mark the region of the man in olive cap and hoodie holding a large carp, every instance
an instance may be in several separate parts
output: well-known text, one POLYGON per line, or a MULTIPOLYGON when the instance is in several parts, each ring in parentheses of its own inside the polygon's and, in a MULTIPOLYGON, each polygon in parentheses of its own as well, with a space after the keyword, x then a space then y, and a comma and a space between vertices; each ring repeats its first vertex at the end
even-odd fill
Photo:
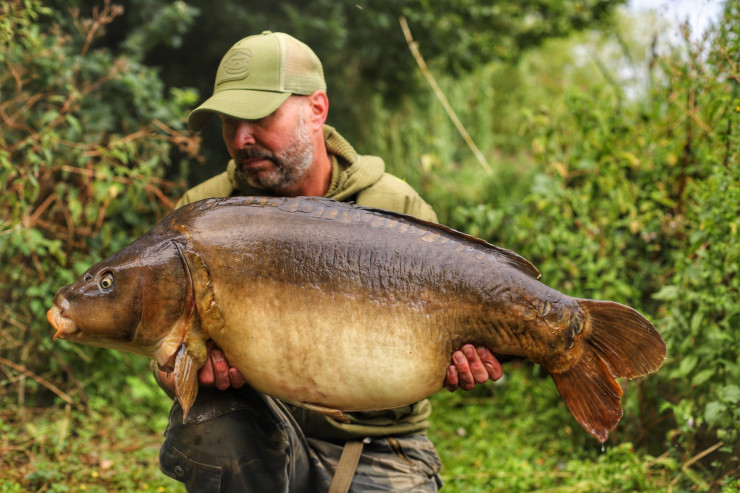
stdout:
MULTIPOLYGON (((323 196, 436 221, 410 186, 385 173, 380 158, 358 155, 325 125, 325 89, 319 59, 295 38, 264 32, 236 43, 221 61, 213 96, 188 119, 197 131, 218 115, 232 160, 178 206, 233 195, 323 196)), ((340 423, 254 391, 218 348, 209 348, 187 423, 175 402, 160 452, 163 472, 189 491, 347 491, 350 481, 352 491, 441 485, 439 457, 425 435, 427 400, 351 413, 350 423, 340 423)), ((448 390, 501 376, 485 348, 465 345, 452 359, 448 390)), ((172 392, 169 375, 158 372, 158 380, 172 392)))

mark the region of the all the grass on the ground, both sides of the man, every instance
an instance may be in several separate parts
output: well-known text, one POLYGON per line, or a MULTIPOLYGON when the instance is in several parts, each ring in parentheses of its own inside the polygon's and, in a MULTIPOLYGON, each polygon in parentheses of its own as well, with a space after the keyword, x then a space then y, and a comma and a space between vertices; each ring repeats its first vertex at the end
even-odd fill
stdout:
MULTIPOLYGON (((682 491, 671 488, 677 467, 668 457, 635 453, 619 428, 602 449, 549 378, 528 365, 506 370, 502 383, 432 397, 444 491, 682 491)), ((124 413, 95 398, 85 411, 4 405, 0 493, 183 492, 159 471, 167 416, 155 407, 124 413)))

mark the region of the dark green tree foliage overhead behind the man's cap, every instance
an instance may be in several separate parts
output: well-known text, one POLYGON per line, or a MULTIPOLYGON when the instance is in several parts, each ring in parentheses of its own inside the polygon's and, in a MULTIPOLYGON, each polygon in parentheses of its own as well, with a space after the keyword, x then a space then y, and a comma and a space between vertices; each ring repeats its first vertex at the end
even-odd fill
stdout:
MULTIPOLYGON (((67 3, 60 1, 59 8, 67 3)), ((90 10, 100 2, 73 3, 90 10)), ((624 3, 289 0, 215 6, 209 0, 136 0, 126 3, 121 22, 111 26, 105 40, 135 50, 137 57, 159 68, 168 86, 195 87, 205 99, 213 91, 216 68, 229 46, 263 30, 288 32, 321 58, 332 103, 330 123, 355 141, 367 135, 367 118, 374 111, 368 101, 373 97, 380 94, 384 105, 394 105, 423 87, 401 32, 401 16, 407 18, 428 62, 462 75, 494 60, 516 60, 549 38, 604 24, 624 3), (171 17, 176 21, 170 22, 171 17), (186 24, 190 28, 184 31, 186 24), (175 42, 164 42, 167 39, 175 42)), ((203 136, 203 153, 217 165, 192 168, 192 184, 215 174, 228 159, 218 125, 206 127, 203 136)))

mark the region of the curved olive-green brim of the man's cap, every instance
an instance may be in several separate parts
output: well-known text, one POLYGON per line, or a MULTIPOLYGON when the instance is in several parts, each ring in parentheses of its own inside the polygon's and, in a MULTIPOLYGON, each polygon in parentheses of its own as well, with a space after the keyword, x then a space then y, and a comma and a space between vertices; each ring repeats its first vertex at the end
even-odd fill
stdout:
POLYGON ((201 130, 214 114, 241 120, 259 120, 278 109, 290 94, 249 89, 219 91, 190 113, 188 128, 195 132, 201 130))

